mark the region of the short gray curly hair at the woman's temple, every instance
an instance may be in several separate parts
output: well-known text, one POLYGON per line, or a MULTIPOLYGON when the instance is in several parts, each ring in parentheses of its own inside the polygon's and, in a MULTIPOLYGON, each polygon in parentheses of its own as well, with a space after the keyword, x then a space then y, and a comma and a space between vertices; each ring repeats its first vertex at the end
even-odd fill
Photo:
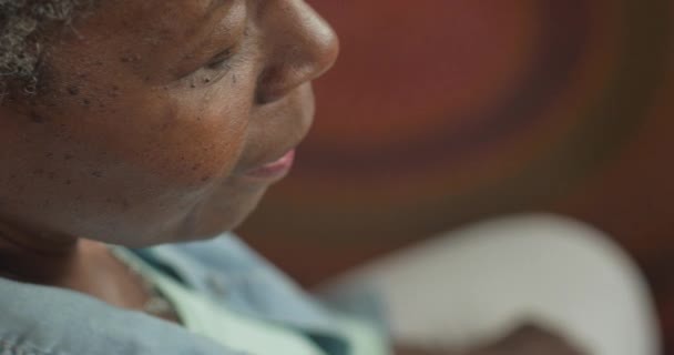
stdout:
POLYGON ((10 82, 37 90, 48 26, 70 24, 94 0, 0 0, 0 95, 10 82))

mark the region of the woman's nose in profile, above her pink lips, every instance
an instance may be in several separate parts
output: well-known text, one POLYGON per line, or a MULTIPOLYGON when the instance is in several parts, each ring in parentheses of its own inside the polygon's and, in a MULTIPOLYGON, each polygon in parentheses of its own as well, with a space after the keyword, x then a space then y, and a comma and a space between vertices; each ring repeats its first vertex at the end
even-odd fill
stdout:
POLYGON ((320 77, 339 53, 335 31, 303 0, 264 3, 258 13, 267 60, 257 85, 259 104, 280 100, 320 77))

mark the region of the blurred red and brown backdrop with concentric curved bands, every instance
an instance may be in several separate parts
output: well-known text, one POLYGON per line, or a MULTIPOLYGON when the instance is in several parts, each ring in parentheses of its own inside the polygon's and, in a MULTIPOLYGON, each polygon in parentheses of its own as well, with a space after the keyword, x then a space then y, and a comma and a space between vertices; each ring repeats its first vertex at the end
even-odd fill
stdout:
POLYGON ((545 211, 640 263, 674 354, 673 0, 312 0, 340 34, 293 174, 239 233, 304 285, 545 211))

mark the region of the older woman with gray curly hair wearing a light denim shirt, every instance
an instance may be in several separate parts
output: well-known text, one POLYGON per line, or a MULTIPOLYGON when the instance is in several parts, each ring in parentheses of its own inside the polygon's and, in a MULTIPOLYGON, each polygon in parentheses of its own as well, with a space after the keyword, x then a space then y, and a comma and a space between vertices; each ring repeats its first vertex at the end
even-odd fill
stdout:
POLYGON ((226 234, 337 57, 304 1, 0 0, 0 354, 389 353, 226 234))

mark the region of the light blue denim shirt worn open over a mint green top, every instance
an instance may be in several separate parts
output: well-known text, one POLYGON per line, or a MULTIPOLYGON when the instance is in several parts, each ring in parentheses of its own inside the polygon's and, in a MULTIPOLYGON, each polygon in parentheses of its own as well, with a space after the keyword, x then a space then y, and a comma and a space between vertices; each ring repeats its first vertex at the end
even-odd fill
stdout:
MULTIPOLYGON (((348 354, 333 313, 233 235, 135 253, 167 275, 252 317, 348 354)), ((211 339, 69 290, 0 278, 0 355, 234 355, 211 339)), ((252 354, 255 355, 255 354, 252 354)))

